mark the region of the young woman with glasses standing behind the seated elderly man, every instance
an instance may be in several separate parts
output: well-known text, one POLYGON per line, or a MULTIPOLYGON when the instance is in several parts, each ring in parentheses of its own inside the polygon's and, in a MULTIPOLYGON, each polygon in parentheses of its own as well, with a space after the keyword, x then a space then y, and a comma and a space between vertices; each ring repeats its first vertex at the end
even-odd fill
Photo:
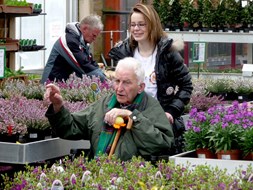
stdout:
POLYGON ((129 17, 130 37, 113 47, 109 56, 118 60, 132 56, 145 68, 145 91, 158 99, 173 124, 175 151, 182 152, 185 130, 181 115, 190 101, 192 81, 179 51, 183 42, 173 41, 164 32, 160 18, 151 5, 136 4, 129 17))

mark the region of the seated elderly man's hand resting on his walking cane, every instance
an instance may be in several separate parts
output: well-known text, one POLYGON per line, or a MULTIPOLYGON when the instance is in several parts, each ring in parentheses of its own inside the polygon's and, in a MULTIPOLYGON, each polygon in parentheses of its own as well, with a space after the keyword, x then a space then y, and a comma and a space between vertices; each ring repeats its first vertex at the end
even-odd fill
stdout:
POLYGON ((113 108, 105 114, 104 121, 109 125, 113 125, 118 116, 125 118, 130 116, 131 114, 132 112, 130 110, 113 108))

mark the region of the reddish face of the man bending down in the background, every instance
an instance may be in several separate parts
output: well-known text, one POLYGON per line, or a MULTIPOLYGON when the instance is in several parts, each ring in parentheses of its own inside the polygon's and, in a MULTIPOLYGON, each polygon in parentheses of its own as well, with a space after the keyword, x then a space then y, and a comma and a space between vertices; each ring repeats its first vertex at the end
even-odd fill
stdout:
POLYGON ((101 33, 99 29, 91 28, 88 25, 80 25, 80 30, 83 34, 84 41, 87 43, 95 41, 97 36, 101 33))

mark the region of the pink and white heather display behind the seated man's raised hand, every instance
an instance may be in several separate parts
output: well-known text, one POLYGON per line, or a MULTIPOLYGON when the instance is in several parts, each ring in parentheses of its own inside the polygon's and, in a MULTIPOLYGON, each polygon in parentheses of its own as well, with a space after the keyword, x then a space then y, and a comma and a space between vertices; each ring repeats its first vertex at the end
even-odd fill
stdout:
MULTIPOLYGON (((58 85, 61 87, 65 106, 71 112, 84 109, 111 91, 111 83, 101 83, 97 77, 84 76, 80 79, 72 75, 69 80, 58 85), (94 92, 91 84, 97 84, 99 91, 94 92)), ((0 98, 0 134, 6 135, 7 140, 8 136, 20 135, 16 141, 21 143, 43 139, 43 137, 37 138, 40 136, 36 134, 37 132, 50 136, 51 127, 45 117, 48 102, 43 101, 44 92, 45 86, 33 81, 5 81, 0 89, 0 97, 2 97, 0 98)), ((1 140, 3 138, 0 138, 1 140)))

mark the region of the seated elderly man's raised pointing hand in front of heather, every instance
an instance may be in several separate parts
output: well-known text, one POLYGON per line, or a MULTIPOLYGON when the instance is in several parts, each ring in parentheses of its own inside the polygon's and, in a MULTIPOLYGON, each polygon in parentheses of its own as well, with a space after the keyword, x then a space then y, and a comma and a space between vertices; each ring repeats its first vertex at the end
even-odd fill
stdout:
POLYGON ((55 84, 46 85, 44 100, 50 101, 53 104, 54 111, 57 113, 63 106, 63 98, 60 93, 60 88, 55 84))

